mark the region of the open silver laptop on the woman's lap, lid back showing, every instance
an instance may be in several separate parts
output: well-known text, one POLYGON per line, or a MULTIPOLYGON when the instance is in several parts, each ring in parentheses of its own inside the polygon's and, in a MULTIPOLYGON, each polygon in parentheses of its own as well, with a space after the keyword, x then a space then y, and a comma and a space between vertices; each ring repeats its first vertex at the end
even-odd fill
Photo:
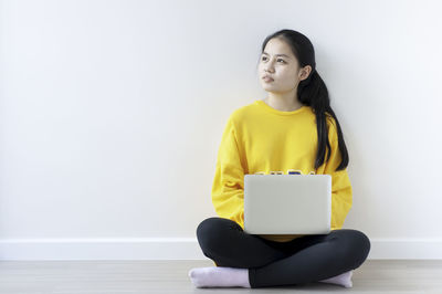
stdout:
POLYGON ((244 232, 326 234, 330 221, 330 175, 244 176, 244 232))

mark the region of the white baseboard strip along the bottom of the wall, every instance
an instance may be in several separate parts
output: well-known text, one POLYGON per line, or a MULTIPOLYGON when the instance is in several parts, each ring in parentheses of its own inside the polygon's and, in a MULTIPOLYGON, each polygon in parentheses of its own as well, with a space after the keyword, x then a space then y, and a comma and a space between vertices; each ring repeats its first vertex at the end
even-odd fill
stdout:
MULTIPOLYGON (((442 260, 442 239, 370 239, 368 260, 442 260)), ((4 239, 0 260, 209 260, 196 238, 4 239)))

